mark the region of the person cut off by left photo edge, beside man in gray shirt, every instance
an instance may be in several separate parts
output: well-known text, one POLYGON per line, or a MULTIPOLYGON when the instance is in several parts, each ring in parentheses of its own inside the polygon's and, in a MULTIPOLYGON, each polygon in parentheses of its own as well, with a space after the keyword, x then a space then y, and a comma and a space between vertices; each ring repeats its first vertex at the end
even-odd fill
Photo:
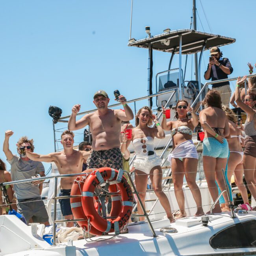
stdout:
MULTIPOLYGON (((11 174, 6 171, 6 164, 0 159, 0 183, 2 182, 11 182, 11 174)), ((13 202, 13 187, 11 185, 6 186, 7 195, 9 197, 10 202, 13 202)), ((6 214, 9 211, 9 207, 4 205, 4 202, 2 201, 2 191, 0 190, 0 202, 1 202, 1 208, 4 208, 6 210, 6 214)), ((11 207, 17 211, 16 204, 12 204, 11 207)), ((2 215, 2 209, 0 209, 0 215, 2 215)))

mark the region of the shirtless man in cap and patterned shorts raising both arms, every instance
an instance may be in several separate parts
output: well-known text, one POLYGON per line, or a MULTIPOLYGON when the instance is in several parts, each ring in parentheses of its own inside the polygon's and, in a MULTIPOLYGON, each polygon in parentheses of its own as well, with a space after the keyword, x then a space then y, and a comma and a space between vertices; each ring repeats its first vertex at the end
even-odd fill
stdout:
POLYGON ((80 110, 77 104, 72 108, 69 119, 69 130, 79 130, 89 125, 93 136, 93 152, 87 160, 88 168, 111 167, 114 169, 122 168, 122 154, 120 150, 119 135, 121 132, 121 121, 129 121, 134 118, 132 109, 126 104, 126 98, 119 96, 124 111, 121 109, 109 109, 109 97, 105 91, 97 91, 94 94, 93 103, 96 110, 83 116, 76 121, 76 115, 80 110))

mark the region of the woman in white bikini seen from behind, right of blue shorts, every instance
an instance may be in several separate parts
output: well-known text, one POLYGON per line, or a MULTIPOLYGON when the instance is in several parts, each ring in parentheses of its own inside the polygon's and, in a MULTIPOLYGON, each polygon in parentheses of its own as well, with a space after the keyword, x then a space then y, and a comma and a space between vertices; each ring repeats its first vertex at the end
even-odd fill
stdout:
POLYGON ((245 187, 245 184, 243 184, 242 147, 244 147, 245 141, 241 132, 241 129, 243 129, 243 125, 241 124, 241 128, 237 127, 237 117, 230 108, 223 106, 223 110, 228 117, 228 124, 230 130, 230 138, 228 138, 228 147, 230 150, 230 156, 228 158, 228 182, 231 182, 231 177, 234 174, 235 183, 241 193, 243 202, 244 204, 247 204, 250 208, 247 189, 245 187))

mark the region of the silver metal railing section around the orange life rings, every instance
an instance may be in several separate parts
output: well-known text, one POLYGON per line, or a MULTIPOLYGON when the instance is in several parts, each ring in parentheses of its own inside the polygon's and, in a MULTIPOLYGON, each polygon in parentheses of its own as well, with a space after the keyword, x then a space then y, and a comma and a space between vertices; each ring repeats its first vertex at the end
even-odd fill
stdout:
MULTIPOLYGON (((120 169, 121 170, 121 169, 120 169)), ((129 178, 130 184, 132 184, 132 189, 134 190, 132 193, 137 195, 137 200, 141 206, 141 209, 143 210, 143 214, 131 214, 131 217, 145 217, 147 219, 148 225, 150 227, 150 230, 152 232, 152 235, 156 237, 156 232, 154 231, 154 228, 152 226, 152 223, 148 217, 148 213, 145 210, 145 207, 143 206, 143 203, 141 201, 141 198, 139 197, 139 193, 134 185, 134 182, 130 176, 130 173, 128 171, 123 171, 126 173, 126 177, 129 178)), ((57 200, 58 199, 66 199, 66 198, 74 198, 74 197, 82 197, 82 195, 70 195, 70 196, 57 196, 57 187, 58 187, 58 178, 67 178, 67 177, 78 177, 78 176, 85 176, 89 173, 74 173, 74 174, 61 174, 61 175, 54 175, 54 176, 47 176, 47 179, 54 179, 54 198, 51 198, 54 200, 54 219, 53 219, 53 244, 56 245, 56 223, 67 223, 67 222, 74 222, 74 221, 88 221, 88 219, 61 219, 61 220, 56 220, 56 211, 57 211, 57 200)), ((13 184, 20 184, 20 183, 26 183, 26 182, 33 182, 33 181, 38 181, 38 180, 45 180, 44 177, 39 177, 39 178, 30 178, 30 179, 24 179, 24 180, 16 180, 16 181, 11 181, 11 182, 3 182, 0 185, 1 186, 7 186, 7 185, 13 185, 13 184)), ((108 183, 108 181, 106 181, 108 183)), ((119 192, 116 193, 106 193, 106 195, 115 195, 118 194, 119 192)), ((98 194, 95 194, 95 196, 100 196, 98 194)), ((109 218, 109 217, 106 217, 109 218)), ((111 217, 110 217, 111 218, 111 217)), ((89 223, 89 221, 88 221, 89 223)), ((88 231, 89 233, 89 226, 88 226, 88 231)))

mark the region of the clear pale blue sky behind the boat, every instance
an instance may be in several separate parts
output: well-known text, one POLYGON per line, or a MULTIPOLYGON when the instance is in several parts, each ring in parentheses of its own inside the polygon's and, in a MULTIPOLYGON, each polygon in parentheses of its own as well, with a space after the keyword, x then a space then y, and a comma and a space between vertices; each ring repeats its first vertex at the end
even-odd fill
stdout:
MULTIPOLYGON (((247 74, 247 62, 256 62, 256 1, 201 2, 212 33, 236 38, 236 43, 221 48, 234 67, 232 76, 247 74)), ((1 145, 5 130, 11 129, 13 153, 22 135, 35 140, 35 152, 53 152, 50 105, 59 106, 64 116, 77 103, 82 111, 94 108, 98 89, 110 96, 119 89, 128 99, 147 94, 148 52, 127 46, 130 6, 130 0, 0 1, 1 145)), ((198 18, 197 30, 210 32, 199 0, 197 11, 203 24, 198 18)), ((192 0, 134 0, 132 37, 144 38, 145 26, 152 35, 165 28, 189 28, 191 13, 192 0)), ((153 78, 168 68, 169 58, 154 52, 153 78)), ((178 56, 172 67, 178 67, 178 56)), ((191 57, 188 67, 190 78, 191 57)), ((205 68, 203 61, 202 73, 205 68)), ((0 158, 5 160, 2 150, 0 158)))

